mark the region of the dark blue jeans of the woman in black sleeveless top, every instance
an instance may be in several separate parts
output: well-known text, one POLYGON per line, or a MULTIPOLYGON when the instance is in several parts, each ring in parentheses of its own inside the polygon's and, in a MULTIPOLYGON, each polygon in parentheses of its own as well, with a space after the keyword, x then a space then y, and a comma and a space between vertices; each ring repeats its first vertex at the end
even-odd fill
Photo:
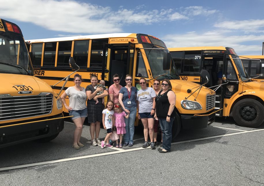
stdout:
POLYGON ((171 152, 171 129, 173 125, 175 117, 171 117, 171 121, 166 121, 166 118, 159 118, 160 121, 160 128, 162 131, 162 144, 163 149, 165 149, 168 152, 171 152))

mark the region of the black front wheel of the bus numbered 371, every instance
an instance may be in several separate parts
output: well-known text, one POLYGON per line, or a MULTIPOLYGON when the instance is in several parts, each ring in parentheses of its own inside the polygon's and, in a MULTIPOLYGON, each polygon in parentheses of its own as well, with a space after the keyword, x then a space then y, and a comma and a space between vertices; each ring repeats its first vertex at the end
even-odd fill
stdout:
POLYGON ((235 122, 243 127, 257 127, 263 123, 264 107, 254 99, 242 99, 233 108, 235 122))

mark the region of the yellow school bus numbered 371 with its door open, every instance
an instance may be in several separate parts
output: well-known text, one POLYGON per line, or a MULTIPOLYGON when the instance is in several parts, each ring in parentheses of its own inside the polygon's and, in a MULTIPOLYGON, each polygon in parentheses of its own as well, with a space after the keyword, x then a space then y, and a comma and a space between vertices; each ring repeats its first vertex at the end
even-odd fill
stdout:
MULTIPOLYGON (((257 127, 264 121, 264 85, 250 78, 239 56, 228 47, 169 48, 182 80, 200 82, 200 71, 206 69, 210 78, 207 87, 217 87, 225 74, 228 83, 216 91, 217 116, 233 116, 237 124, 257 127)), ((259 76, 261 63, 257 62, 255 77, 259 76)), ((252 69, 253 70, 253 69, 252 69)), ((253 75, 253 76, 254 76, 253 75)))

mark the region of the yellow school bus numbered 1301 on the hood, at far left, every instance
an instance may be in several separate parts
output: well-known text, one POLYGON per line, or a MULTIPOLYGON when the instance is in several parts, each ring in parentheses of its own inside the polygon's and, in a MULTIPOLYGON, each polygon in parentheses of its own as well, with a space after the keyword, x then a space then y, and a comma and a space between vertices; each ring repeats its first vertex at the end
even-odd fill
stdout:
POLYGON ((60 97, 34 76, 20 28, 0 19, 0 148, 49 141, 64 127, 60 97))

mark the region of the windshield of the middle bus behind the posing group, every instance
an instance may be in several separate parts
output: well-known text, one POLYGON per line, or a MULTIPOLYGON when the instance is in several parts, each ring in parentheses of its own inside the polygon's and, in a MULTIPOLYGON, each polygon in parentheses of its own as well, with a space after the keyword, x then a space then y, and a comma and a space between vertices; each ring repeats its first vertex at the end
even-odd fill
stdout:
MULTIPOLYGON (((152 72, 152 76, 159 76, 165 74, 167 71, 163 70, 163 55, 168 50, 160 49, 157 46, 150 44, 143 44, 144 48, 157 48, 157 49, 144 49, 147 59, 149 61, 149 66, 152 72), (160 49, 160 50, 158 50, 160 49)), ((179 79, 178 73, 174 63, 171 65, 171 70, 168 74, 164 75, 168 79, 179 79)))

